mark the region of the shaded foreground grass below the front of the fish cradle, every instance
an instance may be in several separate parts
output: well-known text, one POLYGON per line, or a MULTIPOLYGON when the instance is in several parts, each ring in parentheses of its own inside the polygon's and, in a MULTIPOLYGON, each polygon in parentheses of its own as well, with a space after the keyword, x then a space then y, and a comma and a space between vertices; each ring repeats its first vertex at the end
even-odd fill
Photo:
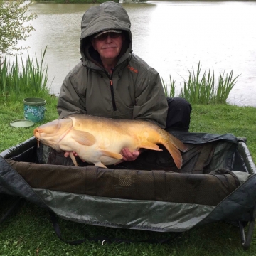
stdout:
MULTIPOLYGON (((66 239, 85 238, 85 236, 105 235, 109 238, 143 240, 145 238, 172 238, 171 233, 151 233, 142 230, 123 230, 81 225, 60 221, 66 239)), ((254 235, 255 236, 255 235, 254 235)), ((50 224, 45 210, 25 203, 16 215, 1 225, 0 255, 255 255, 255 242, 247 252, 240 246, 238 228, 228 223, 213 223, 180 234, 168 244, 106 244, 87 241, 81 245, 68 245, 60 241, 50 224), (18 228, 16 228, 18 227, 18 228)))

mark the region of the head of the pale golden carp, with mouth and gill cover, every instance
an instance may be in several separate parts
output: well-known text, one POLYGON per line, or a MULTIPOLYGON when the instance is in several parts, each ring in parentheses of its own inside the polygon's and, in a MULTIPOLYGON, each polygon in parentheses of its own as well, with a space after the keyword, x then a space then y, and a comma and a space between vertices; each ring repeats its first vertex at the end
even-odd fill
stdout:
POLYGON ((60 141, 72 129, 72 119, 57 119, 46 124, 42 124, 34 129, 33 134, 36 139, 50 146, 53 149, 60 151, 60 141))

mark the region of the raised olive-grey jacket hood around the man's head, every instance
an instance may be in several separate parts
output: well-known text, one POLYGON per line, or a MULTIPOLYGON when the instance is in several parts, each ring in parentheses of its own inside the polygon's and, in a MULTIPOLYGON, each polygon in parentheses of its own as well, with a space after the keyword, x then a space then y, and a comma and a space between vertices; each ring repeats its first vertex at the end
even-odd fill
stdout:
POLYGON ((113 1, 107 1, 99 6, 92 6, 82 16, 80 52, 82 62, 90 68, 100 63, 99 55, 90 43, 90 36, 110 29, 122 30, 125 41, 119 55, 119 63, 129 57, 132 51, 131 21, 127 11, 113 1))

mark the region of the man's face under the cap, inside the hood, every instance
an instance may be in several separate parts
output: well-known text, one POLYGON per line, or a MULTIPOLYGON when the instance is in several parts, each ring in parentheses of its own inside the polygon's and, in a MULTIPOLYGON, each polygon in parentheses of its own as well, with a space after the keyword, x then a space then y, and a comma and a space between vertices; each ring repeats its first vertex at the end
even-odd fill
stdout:
POLYGON ((115 60, 122 48, 124 36, 122 33, 103 33, 97 38, 92 38, 92 46, 100 54, 100 58, 104 60, 115 60))

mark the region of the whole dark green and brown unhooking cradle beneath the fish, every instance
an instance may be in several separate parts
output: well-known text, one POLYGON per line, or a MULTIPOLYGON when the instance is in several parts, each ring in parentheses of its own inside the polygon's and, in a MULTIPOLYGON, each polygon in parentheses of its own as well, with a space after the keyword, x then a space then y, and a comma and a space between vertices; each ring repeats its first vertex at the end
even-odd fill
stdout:
MULTIPOLYGON (((244 139, 181 132, 183 166, 166 150, 102 169, 70 159, 32 137, 0 154, 0 193, 25 198, 66 220, 115 228, 181 232, 226 220, 254 223, 255 164, 244 139)), ((242 223, 242 224, 241 224, 242 223)), ((252 224, 251 224, 252 226, 252 224)))

